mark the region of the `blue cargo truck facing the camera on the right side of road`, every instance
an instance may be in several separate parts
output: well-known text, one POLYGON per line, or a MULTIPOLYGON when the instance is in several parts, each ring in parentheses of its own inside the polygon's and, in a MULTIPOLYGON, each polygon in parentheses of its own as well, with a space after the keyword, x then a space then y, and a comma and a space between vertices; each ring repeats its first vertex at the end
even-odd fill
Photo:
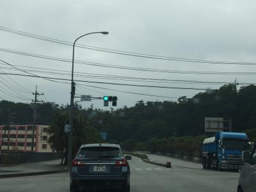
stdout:
POLYGON ((204 169, 238 171, 244 164, 242 152, 248 147, 248 138, 243 132, 216 132, 202 144, 202 166, 204 169))

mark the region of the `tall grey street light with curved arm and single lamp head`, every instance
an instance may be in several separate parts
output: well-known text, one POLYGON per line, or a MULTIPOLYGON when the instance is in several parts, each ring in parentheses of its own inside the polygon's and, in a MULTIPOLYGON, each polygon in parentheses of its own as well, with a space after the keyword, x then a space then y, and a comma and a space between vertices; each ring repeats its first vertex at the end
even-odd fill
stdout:
POLYGON ((73 138, 73 116, 72 111, 74 108, 74 96, 75 96, 75 83, 74 83, 74 55, 75 55, 75 45, 77 40, 79 38, 82 38, 83 36, 94 34, 94 33, 101 33, 103 35, 108 35, 108 31, 100 31, 100 32, 93 32, 93 33, 86 33, 85 35, 79 36, 76 38, 73 44, 73 56, 72 56, 72 74, 71 74, 71 92, 70 92, 70 111, 69 111, 69 125, 70 125, 70 131, 68 134, 68 167, 71 168, 71 162, 72 162, 72 138, 73 138))

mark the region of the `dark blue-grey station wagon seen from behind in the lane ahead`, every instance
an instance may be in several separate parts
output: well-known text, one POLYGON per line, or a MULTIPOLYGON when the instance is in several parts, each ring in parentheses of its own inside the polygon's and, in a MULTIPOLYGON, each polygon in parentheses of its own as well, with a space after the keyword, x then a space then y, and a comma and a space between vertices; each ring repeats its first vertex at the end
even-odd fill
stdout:
POLYGON ((99 188, 130 191, 130 167, 127 160, 131 158, 124 157, 120 145, 81 145, 72 161, 70 191, 99 188))

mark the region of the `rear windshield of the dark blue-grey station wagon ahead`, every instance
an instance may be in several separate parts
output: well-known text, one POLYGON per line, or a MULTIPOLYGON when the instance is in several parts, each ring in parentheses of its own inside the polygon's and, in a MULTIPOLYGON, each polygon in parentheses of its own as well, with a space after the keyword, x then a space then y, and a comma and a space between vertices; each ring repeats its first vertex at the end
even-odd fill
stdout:
POLYGON ((123 156, 122 150, 117 147, 84 147, 77 154, 78 157, 101 159, 123 156))

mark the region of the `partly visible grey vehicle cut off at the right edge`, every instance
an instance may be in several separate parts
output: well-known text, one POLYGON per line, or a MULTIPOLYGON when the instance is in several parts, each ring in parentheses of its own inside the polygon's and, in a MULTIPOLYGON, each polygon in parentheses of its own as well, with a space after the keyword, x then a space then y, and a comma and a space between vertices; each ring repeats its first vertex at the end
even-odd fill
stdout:
POLYGON ((237 191, 256 191, 256 146, 253 148, 252 154, 248 151, 243 152, 243 161, 245 164, 240 173, 237 191))

